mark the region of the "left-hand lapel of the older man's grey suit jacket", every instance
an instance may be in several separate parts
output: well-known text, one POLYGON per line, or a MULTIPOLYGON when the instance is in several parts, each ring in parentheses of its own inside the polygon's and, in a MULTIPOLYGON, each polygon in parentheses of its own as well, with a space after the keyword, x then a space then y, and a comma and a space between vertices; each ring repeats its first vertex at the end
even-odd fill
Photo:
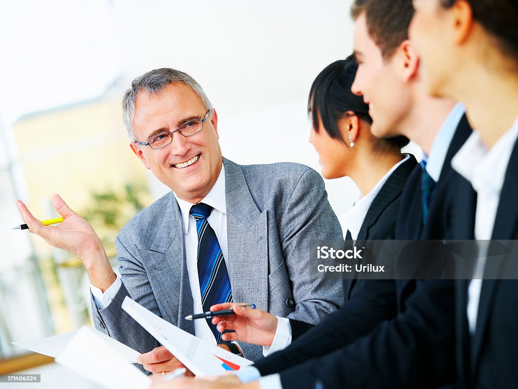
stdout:
POLYGON ((149 248, 142 249, 140 255, 162 318, 194 334, 193 322, 183 320, 193 312, 193 298, 185 261, 183 222, 172 192, 149 248))

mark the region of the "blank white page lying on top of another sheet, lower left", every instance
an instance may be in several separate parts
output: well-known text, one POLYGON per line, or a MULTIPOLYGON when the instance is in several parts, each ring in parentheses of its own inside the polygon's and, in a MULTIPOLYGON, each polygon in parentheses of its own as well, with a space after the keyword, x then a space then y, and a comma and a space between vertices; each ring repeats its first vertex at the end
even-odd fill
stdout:
POLYGON ((91 327, 83 327, 55 361, 110 389, 148 389, 151 379, 100 338, 91 327))

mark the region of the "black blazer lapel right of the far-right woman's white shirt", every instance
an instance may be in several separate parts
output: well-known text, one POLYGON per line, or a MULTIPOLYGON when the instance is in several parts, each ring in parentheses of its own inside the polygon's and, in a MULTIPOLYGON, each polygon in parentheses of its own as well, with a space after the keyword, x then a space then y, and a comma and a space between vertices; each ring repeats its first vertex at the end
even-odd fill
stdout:
MULTIPOLYGON (((514 144, 509 165, 507 166, 505 180, 503 181, 498 209, 496 211, 495 225, 493 227, 493 240, 511 240, 515 237, 518 225, 518 206, 516 206, 516 193, 518 193, 518 141, 514 144)), ((490 246, 488 252, 491 252, 490 246)), ((490 261, 498 261, 490 260, 490 261)), ((501 261, 499 261, 501 264, 501 261)), ((498 266, 488 266, 484 269, 484 276, 495 279, 484 279, 480 291, 479 310, 477 314, 477 330, 473 339, 472 361, 476 364, 482 348, 482 340, 491 313, 491 302, 498 285, 498 266), (486 273, 489 271, 490 273, 486 273)), ((474 368, 475 366, 472 366, 474 368)))

